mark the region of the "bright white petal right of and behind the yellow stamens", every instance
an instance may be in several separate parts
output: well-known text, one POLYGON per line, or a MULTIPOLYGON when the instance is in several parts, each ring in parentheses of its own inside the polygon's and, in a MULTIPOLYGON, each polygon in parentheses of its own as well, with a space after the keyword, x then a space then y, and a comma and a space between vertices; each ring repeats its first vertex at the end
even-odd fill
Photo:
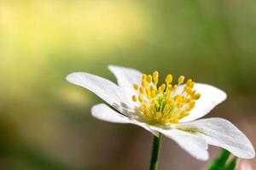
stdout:
MULTIPOLYGON (((180 88, 183 88, 183 86, 180 88)), ((190 111, 189 116, 185 116, 180 122, 194 121, 201 116, 207 115, 216 105, 227 98, 224 91, 211 85, 195 83, 194 89, 201 94, 201 98, 196 100, 195 107, 190 111)))

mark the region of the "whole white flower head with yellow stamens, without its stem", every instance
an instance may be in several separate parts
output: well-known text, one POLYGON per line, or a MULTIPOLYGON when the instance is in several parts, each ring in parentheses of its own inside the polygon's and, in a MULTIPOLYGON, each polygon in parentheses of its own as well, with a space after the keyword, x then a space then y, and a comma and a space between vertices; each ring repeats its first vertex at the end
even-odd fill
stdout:
POLYGON ((172 85, 172 75, 158 84, 158 72, 144 75, 130 68, 110 65, 118 85, 89 73, 74 72, 67 81, 89 89, 108 105, 94 105, 92 116, 107 122, 131 123, 158 136, 173 139, 190 155, 208 159, 208 144, 229 150, 240 158, 255 156, 253 145, 231 122, 222 118, 205 118, 226 94, 211 85, 195 83, 178 77, 172 85))

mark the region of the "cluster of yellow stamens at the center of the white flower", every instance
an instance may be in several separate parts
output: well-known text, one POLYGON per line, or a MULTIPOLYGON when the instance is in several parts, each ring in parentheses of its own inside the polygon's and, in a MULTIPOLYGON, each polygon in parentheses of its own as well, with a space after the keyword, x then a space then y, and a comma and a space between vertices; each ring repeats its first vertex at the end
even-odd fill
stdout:
POLYGON ((158 71, 154 71, 153 75, 143 74, 141 86, 133 85, 139 94, 133 95, 132 100, 138 103, 138 110, 152 123, 177 123, 189 115, 189 111, 195 107, 195 100, 201 97, 193 90, 195 82, 189 79, 183 84, 184 79, 183 76, 178 77, 174 85, 169 74, 166 82, 158 86, 158 71))

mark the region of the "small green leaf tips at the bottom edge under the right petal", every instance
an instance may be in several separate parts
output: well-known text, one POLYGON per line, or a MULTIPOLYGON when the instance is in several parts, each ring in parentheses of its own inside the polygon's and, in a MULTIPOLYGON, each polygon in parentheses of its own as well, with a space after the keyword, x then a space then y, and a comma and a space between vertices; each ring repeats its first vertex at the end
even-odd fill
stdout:
POLYGON ((212 161, 208 170, 235 170, 237 158, 233 157, 230 161, 230 152, 223 150, 215 161, 212 161))

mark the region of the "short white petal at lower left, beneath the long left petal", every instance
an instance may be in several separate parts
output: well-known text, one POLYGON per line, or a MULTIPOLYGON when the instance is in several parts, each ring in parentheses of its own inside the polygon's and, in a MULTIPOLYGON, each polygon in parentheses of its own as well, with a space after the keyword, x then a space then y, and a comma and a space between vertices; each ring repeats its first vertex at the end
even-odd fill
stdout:
POLYGON ((108 105, 105 105, 105 104, 94 105, 91 108, 91 115, 96 117, 97 119, 100 119, 106 122, 131 123, 139 127, 143 127, 144 129, 148 130, 150 133, 153 133, 155 136, 159 136, 159 133, 151 129, 151 127, 148 126, 148 124, 143 122, 137 122, 126 116, 123 116, 119 114, 117 111, 113 111, 113 109, 111 109, 110 107, 108 107, 108 105))

